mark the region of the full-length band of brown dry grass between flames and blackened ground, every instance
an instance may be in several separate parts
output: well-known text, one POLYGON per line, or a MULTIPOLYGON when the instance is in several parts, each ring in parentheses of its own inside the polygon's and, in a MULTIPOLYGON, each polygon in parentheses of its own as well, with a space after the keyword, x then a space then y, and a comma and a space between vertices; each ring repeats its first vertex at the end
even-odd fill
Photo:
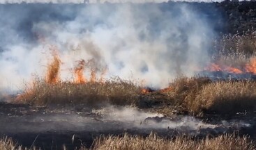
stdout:
POLYGON ((169 88, 144 92, 144 89, 135 83, 120 78, 113 78, 105 83, 54 84, 37 79, 33 82, 33 86, 18 95, 15 100, 38 106, 51 104, 102 106, 110 103, 139 107, 146 101, 144 106, 165 115, 172 115, 174 111, 190 115, 204 113, 234 115, 256 110, 256 82, 213 82, 204 77, 181 77, 170 83, 169 88))

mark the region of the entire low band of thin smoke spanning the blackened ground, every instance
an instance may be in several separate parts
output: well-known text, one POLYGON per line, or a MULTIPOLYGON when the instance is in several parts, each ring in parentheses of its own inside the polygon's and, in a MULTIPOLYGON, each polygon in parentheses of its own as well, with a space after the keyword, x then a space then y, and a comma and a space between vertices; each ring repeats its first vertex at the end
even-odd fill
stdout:
MULTIPOLYGON (((107 106, 100 110, 93 110, 94 115, 77 113, 46 113, 34 114, 13 118, 12 121, 20 122, 19 126, 11 124, 1 126, 3 131, 27 132, 27 131, 107 131, 114 127, 116 131, 123 128, 134 129, 170 129, 189 133, 191 135, 200 130, 215 133, 227 132, 230 128, 240 129, 250 127, 251 124, 239 120, 223 121, 217 124, 208 124, 200 119, 190 116, 176 116, 174 118, 163 117, 157 113, 146 113, 137 108, 123 108, 107 106), (61 124, 61 126, 59 125, 61 124), (14 127, 16 126, 16 127, 14 127), (15 128, 15 130, 10 130, 15 128)), ((5 119, 3 119, 5 120, 5 119)), ((150 130, 149 130, 150 131, 150 130)), ((204 131, 205 132, 205 131, 204 131)))

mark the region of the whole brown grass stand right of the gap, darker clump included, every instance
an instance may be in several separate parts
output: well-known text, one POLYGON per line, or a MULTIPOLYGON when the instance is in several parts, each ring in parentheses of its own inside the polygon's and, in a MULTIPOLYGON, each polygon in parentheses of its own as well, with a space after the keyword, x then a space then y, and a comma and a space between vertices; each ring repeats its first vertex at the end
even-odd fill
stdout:
POLYGON ((156 109, 158 113, 171 115, 172 111, 178 111, 190 115, 234 115, 256 110, 255 81, 212 82, 209 78, 182 77, 177 78, 170 86, 172 90, 160 94, 165 100, 163 107, 156 109))

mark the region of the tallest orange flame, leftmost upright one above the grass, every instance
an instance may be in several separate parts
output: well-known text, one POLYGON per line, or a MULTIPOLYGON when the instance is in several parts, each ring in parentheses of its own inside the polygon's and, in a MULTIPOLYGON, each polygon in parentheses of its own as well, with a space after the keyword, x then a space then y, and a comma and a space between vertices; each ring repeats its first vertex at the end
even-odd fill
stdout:
POLYGON ((58 55, 57 47, 50 47, 52 51, 53 60, 47 66, 47 74, 45 76, 45 81, 50 84, 55 84, 60 81, 60 67, 61 67, 61 60, 58 55))

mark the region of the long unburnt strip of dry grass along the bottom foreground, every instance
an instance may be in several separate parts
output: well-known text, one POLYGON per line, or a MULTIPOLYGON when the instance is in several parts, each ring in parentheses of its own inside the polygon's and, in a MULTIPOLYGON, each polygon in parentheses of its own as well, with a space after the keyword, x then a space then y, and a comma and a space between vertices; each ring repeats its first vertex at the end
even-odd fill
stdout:
POLYGON ((192 140, 191 138, 179 137, 174 140, 159 138, 152 134, 146 138, 138 135, 124 134, 123 136, 107 136, 98 138, 92 149, 115 149, 115 150, 146 150, 146 149, 172 149, 172 150, 239 150, 256 149, 255 144, 246 136, 242 138, 232 135, 220 135, 217 138, 205 138, 203 140, 192 140))

